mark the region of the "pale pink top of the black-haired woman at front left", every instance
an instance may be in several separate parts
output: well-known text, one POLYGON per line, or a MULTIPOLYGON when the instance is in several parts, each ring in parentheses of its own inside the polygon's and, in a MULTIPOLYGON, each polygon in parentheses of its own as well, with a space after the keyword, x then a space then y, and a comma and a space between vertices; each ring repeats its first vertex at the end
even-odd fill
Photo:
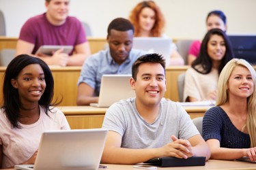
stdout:
POLYGON ((64 114, 56 107, 48 112, 40 107, 40 118, 33 124, 20 124, 21 129, 13 128, 8 118, 0 110, 0 145, 3 146, 2 167, 8 168, 24 163, 36 150, 44 131, 70 129, 64 114), (53 113, 51 113, 53 112, 53 113))

